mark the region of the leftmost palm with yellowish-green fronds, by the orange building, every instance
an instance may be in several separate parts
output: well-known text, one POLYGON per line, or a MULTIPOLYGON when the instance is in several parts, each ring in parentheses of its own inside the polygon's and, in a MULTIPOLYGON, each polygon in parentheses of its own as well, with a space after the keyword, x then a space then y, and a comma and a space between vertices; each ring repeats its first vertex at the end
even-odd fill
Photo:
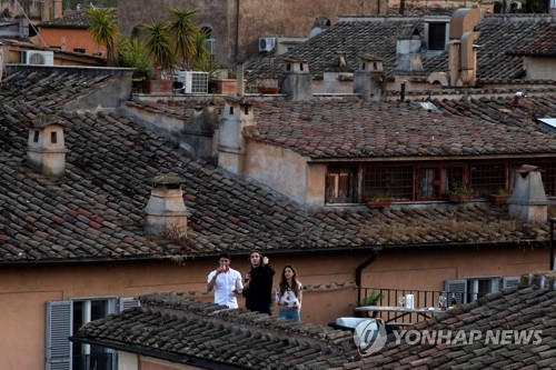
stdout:
POLYGON ((97 44, 106 47, 107 66, 117 66, 120 31, 116 23, 116 9, 89 8, 86 10, 86 14, 92 40, 97 44))

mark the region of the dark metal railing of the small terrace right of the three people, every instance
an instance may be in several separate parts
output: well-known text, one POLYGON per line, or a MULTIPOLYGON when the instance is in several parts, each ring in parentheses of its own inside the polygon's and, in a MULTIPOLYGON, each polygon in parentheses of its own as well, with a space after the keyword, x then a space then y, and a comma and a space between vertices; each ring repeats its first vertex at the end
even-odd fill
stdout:
MULTIPOLYGON (((416 289, 389 289, 389 288, 359 288, 360 301, 358 306, 393 306, 401 307, 404 302, 400 302, 400 297, 406 297, 407 294, 414 296, 414 307, 415 308, 439 308, 440 297, 445 297, 445 307, 449 308, 451 304, 451 297, 456 298, 457 306, 463 303, 473 302, 476 299, 483 297, 486 293, 475 293, 465 291, 439 291, 439 290, 416 290, 416 289), (380 298, 374 304, 367 304, 366 301, 369 297, 379 296, 380 298)), ((395 312, 377 312, 376 318, 380 318, 386 322, 391 322, 398 314, 395 312)), ((424 320, 423 316, 418 314, 407 314, 396 323, 410 324, 424 320)))

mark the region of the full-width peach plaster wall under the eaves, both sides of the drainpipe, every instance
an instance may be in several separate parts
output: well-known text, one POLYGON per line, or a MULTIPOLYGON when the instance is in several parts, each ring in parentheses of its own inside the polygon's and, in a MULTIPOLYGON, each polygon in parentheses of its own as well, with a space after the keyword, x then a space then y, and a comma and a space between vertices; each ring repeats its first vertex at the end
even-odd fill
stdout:
MULTIPOLYGON (((302 236, 299 236, 302 237, 302 236)), ((353 314, 357 290, 355 271, 370 257, 357 250, 341 254, 270 257, 277 284, 285 264, 294 264, 304 292, 301 320, 327 324, 353 314), (335 283, 332 283, 335 282, 335 283)), ((519 276, 548 268, 547 248, 512 250, 379 251, 363 273, 363 287, 443 290, 444 280, 478 276, 519 276)), ((44 367, 46 302, 87 297, 133 297, 148 292, 183 291, 186 297, 212 301, 206 289, 216 259, 96 264, 71 267, 3 268, 0 270, 0 369, 44 367), (195 291, 191 294, 190 291, 195 291)), ((232 268, 245 274, 247 256, 234 257, 232 268)), ((239 307, 245 301, 239 300, 239 307)), ((276 314, 276 308, 274 309, 276 314)))

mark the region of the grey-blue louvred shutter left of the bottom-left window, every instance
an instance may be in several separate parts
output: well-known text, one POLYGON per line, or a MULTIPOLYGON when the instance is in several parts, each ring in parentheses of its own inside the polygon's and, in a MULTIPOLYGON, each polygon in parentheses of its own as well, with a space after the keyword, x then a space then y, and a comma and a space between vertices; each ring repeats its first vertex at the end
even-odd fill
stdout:
POLYGON ((71 370, 71 301, 47 302, 46 370, 71 370))

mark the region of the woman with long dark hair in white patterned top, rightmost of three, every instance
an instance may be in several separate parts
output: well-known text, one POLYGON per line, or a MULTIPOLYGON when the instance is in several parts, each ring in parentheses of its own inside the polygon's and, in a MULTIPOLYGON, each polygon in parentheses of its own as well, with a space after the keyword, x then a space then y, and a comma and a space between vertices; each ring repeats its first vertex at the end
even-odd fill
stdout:
POLYGON ((276 303, 278 303, 278 317, 294 321, 301 321, 302 286, 297 281, 296 269, 286 264, 281 272, 281 281, 276 288, 276 303))

